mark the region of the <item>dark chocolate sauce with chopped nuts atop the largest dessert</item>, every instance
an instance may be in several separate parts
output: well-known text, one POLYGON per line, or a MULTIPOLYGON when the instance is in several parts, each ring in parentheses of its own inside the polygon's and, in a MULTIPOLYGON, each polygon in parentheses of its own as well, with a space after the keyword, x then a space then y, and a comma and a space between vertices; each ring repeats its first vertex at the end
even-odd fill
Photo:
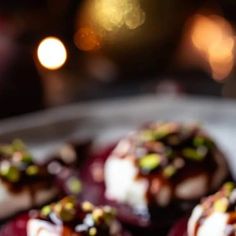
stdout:
POLYGON ((149 123, 120 144, 123 148, 118 144, 111 155, 135 162, 137 179, 145 178, 149 183, 149 205, 156 204, 155 198, 164 185, 170 187, 172 201, 180 200, 175 195, 176 186, 200 174, 206 176, 207 189, 212 191, 212 176, 219 167, 215 155, 225 162, 216 144, 197 125, 149 123))

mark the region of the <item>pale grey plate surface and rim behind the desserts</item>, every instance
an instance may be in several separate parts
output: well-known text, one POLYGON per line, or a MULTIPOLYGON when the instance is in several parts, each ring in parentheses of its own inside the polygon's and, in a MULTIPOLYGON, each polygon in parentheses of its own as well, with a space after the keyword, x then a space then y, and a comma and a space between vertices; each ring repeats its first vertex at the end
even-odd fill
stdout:
POLYGON ((128 131, 153 120, 200 123, 226 153, 235 173, 236 105, 230 100, 147 95, 75 104, 2 121, 0 141, 21 138, 42 161, 64 142, 89 138, 97 154, 128 131))

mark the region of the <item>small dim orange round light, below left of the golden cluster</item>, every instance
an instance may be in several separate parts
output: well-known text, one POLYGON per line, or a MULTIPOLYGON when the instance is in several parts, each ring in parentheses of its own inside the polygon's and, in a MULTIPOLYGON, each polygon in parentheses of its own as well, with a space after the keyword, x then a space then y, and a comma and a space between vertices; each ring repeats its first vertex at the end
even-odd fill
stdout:
POLYGON ((100 48, 100 37, 90 27, 81 27, 74 36, 75 45, 83 51, 100 48))

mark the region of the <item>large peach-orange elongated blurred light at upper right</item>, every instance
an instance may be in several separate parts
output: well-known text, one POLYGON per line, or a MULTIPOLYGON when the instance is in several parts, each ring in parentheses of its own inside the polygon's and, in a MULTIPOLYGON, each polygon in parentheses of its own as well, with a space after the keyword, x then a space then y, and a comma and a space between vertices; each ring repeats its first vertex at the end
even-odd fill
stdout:
POLYGON ((234 66, 235 41, 229 22, 217 15, 196 15, 191 39, 194 47, 209 63, 212 77, 225 79, 234 66))

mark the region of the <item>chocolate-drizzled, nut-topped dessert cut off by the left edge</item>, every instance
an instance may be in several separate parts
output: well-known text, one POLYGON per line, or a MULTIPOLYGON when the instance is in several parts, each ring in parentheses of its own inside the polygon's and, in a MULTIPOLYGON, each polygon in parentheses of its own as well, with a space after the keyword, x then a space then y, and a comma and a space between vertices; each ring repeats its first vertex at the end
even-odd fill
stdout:
POLYGON ((41 205, 57 192, 47 167, 36 164, 21 141, 0 146, 0 219, 41 205))

